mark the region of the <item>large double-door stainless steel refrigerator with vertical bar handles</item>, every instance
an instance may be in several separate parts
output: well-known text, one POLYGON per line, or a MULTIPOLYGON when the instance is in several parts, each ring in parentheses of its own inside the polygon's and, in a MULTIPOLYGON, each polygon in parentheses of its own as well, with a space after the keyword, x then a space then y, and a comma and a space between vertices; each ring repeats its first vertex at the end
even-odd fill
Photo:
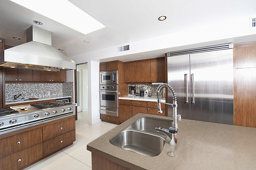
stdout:
POLYGON ((232 48, 172 56, 167 63, 168 84, 177 95, 181 118, 233 125, 232 48))

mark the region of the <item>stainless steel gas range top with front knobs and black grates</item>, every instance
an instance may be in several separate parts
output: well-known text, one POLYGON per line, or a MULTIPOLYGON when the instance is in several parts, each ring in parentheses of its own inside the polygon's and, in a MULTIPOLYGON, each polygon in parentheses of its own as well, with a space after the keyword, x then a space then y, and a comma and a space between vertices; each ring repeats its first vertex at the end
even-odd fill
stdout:
POLYGON ((75 115, 74 103, 45 102, 0 109, 0 134, 75 115))

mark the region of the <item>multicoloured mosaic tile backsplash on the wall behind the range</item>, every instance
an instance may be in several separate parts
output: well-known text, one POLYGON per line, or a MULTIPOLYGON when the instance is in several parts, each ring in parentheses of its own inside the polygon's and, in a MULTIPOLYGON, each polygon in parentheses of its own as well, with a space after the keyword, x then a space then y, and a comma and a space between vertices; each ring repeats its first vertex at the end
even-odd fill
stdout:
POLYGON ((64 83, 6 83, 6 100, 13 99, 15 94, 22 94, 25 99, 29 97, 41 98, 51 96, 72 96, 73 82, 64 83))

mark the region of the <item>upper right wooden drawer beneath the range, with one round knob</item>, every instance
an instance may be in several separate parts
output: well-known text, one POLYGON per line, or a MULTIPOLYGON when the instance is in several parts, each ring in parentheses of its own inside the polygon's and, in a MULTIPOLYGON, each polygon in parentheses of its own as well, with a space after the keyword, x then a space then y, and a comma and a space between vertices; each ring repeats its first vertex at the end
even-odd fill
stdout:
POLYGON ((76 129, 75 118, 43 127, 43 141, 76 129))

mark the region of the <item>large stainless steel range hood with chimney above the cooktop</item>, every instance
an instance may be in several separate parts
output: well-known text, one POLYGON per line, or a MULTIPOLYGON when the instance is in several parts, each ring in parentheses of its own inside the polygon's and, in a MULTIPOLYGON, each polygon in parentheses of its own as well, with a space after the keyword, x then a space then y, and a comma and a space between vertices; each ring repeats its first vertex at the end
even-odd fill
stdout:
POLYGON ((52 32, 37 26, 26 30, 26 43, 0 53, 0 66, 35 70, 75 70, 76 63, 52 45, 52 32))

